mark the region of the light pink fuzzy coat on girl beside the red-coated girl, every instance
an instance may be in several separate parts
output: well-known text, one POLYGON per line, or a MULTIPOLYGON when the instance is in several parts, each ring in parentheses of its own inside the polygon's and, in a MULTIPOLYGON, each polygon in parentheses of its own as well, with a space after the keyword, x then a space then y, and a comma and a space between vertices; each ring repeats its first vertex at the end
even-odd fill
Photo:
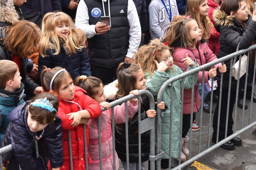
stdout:
MULTIPOLYGON (((128 104, 128 118, 133 117, 133 115, 138 112, 138 99, 134 100, 132 105, 130 102, 128 104)), ((112 139, 112 129, 111 129, 111 109, 108 109, 101 113, 100 115, 100 132, 101 132, 101 155, 102 155, 102 168, 104 170, 113 170, 113 139, 112 139)), ((115 123, 125 123, 125 105, 114 107, 114 118, 115 123)), ((100 169, 100 156, 99 156, 99 135, 98 135, 98 120, 90 119, 88 123, 88 128, 90 130, 90 142, 88 153, 91 156, 92 163, 88 164, 89 170, 99 170, 100 169)), ((116 154, 116 169, 119 168, 119 160, 116 154)))

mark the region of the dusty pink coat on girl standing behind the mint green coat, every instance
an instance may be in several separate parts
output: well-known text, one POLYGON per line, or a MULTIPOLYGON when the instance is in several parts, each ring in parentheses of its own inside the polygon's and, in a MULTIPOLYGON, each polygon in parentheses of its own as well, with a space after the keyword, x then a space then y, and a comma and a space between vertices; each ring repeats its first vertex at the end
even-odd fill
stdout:
MULTIPOLYGON (((187 67, 183 64, 181 61, 183 58, 186 57, 186 53, 188 53, 188 56, 194 61, 194 57, 196 58, 196 61, 199 66, 209 63, 211 61, 217 60, 217 57, 215 54, 212 53, 212 50, 208 47, 206 42, 199 42, 197 44, 198 48, 191 49, 191 48, 180 48, 180 47, 174 47, 174 54, 172 55, 173 60, 175 64, 180 67, 182 70, 186 71, 187 67)), ((221 63, 214 65, 214 67, 217 69, 221 65, 221 63)), ((193 113, 198 112, 201 100, 198 93, 198 84, 202 83, 203 80, 203 71, 199 71, 197 84, 194 88, 194 103, 193 103, 193 113)), ((204 73, 204 83, 208 82, 208 71, 205 71, 204 73)), ((191 112, 191 89, 184 89, 184 100, 183 100, 183 114, 187 115, 191 112)))

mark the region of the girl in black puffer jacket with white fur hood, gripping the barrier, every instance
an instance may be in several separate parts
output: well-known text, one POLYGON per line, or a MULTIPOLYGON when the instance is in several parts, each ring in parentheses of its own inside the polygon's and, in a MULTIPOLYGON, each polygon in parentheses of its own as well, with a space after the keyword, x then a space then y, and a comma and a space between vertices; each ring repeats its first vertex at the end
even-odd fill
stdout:
MULTIPOLYGON (((117 80, 104 87, 107 99, 117 100, 130 94, 131 91, 146 90, 146 80, 143 71, 137 65, 130 63, 120 63, 117 68, 117 80), (111 92, 110 92, 111 91, 111 92), (112 92, 114 91, 114 92, 112 92), (111 94, 110 94, 111 93, 111 94), (111 96, 112 95, 112 96, 111 96)), ((138 95, 138 91, 135 95, 138 95)), ((146 95, 141 95, 140 120, 148 117, 155 117, 156 111, 149 109, 149 100, 146 95)), ((164 102, 158 107, 164 109, 164 102)), ((129 138, 129 169, 139 167, 139 113, 136 112, 132 118, 128 119, 128 138, 129 138)), ((125 123, 116 124, 115 129, 116 152, 121 159, 124 169, 126 167, 126 142, 125 142, 125 123)), ((152 147, 152 146, 151 146, 152 147)), ((141 169, 145 168, 145 162, 149 156, 149 131, 141 134, 141 169)))

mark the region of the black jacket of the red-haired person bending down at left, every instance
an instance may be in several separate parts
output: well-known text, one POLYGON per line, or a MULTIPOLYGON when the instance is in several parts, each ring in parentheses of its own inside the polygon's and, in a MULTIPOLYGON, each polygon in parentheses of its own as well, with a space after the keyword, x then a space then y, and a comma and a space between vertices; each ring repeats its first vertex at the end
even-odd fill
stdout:
MULTIPOLYGON (((12 58, 8 51, 4 49, 4 45, 2 44, 1 38, 5 38, 5 28, 0 27, 0 60, 11 60, 12 58)), ((36 87, 39 87, 28 75, 32 68, 33 63, 28 61, 28 58, 22 58, 21 59, 21 70, 20 76, 21 76, 21 82, 25 85, 25 93, 29 96, 34 96, 34 91, 36 87)))

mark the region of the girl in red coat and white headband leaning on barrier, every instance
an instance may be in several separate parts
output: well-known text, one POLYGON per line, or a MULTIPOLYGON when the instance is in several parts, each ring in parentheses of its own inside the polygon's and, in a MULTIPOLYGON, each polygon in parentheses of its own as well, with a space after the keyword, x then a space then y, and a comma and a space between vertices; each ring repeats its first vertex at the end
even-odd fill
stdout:
MULTIPOLYGON (((63 129, 63 152, 64 164, 61 169, 70 169, 68 150, 68 130, 71 134, 71 150, 73 168, 85 170, 85 149, 89 144, 89 129, 86 125, 87 148, 84 148, 84 128, 83 124, 88 123, 88 119, 95 119, 100 116, 101 107, 91 97, 86 95, 86 91, 73 84, 70 74, 61 67, 45 69, 41 73, 41 83, 44 91, 52 93, 59 99, 59 109, 57 115, 60 117, 63 129)), ((88 163, 92 162, 90 155, 88 163)), ((51 169, 51 165, 48 164, 51 169)))

